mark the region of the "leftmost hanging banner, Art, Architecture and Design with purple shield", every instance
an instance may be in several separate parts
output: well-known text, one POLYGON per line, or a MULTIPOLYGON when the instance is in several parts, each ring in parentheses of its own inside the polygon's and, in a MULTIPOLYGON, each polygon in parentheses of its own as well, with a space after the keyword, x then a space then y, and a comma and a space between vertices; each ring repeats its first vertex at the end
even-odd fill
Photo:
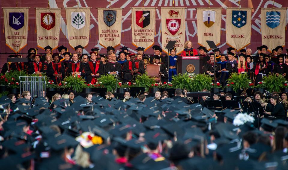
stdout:
POLYGON ((6 45, 18 53, 27 45, 28 8, 4 8, 6 45))

